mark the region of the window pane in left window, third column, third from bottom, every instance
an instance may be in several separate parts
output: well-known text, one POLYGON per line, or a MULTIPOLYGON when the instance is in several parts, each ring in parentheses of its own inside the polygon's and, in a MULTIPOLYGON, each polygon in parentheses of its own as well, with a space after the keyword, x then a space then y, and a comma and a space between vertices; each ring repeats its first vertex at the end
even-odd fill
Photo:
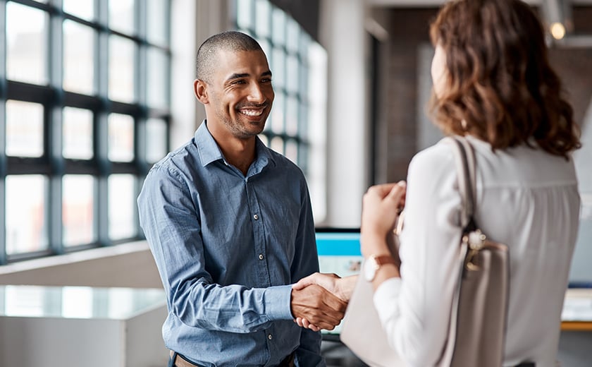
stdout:
POLYGON ((134 102, 134 53, 131 40, 109 36, 109 98, 121 102, 134 102))

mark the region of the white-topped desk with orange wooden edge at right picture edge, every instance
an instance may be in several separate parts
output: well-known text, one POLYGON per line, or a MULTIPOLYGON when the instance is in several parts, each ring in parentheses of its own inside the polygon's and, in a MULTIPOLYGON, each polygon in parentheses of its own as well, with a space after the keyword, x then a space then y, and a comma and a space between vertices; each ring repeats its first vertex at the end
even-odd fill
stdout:
POLYGON ((592 331, 592 289, 570 288, 565 292, 561 330, 592 331))

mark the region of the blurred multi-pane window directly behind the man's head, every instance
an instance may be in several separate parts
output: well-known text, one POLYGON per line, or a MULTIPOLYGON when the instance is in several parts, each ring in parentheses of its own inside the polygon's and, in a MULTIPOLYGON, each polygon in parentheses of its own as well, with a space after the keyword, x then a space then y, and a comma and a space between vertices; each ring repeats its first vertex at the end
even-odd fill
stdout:
POLYGON ((326 51, 269 0, 236 0, 235 24, 269 60, 276 92, 261 140, 307 176, 315 222, 326 216, 326 51))

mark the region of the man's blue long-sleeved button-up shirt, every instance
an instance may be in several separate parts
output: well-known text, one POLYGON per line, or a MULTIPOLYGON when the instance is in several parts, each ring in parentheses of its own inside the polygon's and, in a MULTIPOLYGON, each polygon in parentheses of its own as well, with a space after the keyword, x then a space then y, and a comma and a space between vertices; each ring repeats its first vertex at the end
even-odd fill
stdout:
POLYGON ((166 347, 202 366, 325 366, 321 335, 298 327, 290 284, 319 270, 307 183, 257 139, 244 176, 206 121, 156 163, 138 197, 167 295, 166 347))

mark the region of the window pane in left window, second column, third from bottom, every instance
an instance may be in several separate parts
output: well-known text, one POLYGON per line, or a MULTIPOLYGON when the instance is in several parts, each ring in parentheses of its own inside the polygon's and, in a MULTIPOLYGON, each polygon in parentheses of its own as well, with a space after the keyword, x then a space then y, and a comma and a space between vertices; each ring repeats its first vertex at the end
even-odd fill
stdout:
POLYGON ((72 20, 63 22, 63 89, 94 93, 94 31, 72 20))

